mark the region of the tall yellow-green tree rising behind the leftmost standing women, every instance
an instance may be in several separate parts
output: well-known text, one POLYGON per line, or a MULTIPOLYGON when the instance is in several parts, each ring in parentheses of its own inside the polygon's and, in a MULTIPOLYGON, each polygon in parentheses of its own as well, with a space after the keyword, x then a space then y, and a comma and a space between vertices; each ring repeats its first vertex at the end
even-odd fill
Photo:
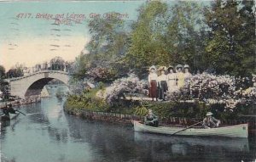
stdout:
POLYGON ((153 1, 144 4, 138 11, 139 16, 133 24, 126 61, 132 69, 142 75, 152 64, 169 62, 163 39, 167 25, 167 4, 153 1))

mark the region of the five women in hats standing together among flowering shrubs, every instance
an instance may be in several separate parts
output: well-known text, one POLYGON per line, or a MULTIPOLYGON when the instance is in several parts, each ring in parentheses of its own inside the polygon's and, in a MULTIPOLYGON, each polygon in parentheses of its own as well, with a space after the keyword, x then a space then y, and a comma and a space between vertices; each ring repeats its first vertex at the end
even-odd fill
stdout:
POLYGON ((166 100, 166 92, 174 92, 189 83, 191 77, 189 65, 177 64, 176 68, 161 66, 158 70, 153 65, 149 68, 149 98, 156 101, 166 100), (158 75, 159 74, 159 75, 158 75))

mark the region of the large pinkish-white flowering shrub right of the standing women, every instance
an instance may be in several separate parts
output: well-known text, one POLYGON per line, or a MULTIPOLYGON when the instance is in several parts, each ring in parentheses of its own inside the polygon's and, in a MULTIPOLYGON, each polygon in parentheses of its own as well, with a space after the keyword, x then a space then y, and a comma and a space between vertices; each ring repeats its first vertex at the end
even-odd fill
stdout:
POLYGON ((255 96, 255 87, 237 87, 234 76, 207 73, 193 75, 187 85, 167 93, 167 98, 172 101, 197 99, 207 103, 225 103, 230 109, 235 108, 236 103, 255 102, 255 96))

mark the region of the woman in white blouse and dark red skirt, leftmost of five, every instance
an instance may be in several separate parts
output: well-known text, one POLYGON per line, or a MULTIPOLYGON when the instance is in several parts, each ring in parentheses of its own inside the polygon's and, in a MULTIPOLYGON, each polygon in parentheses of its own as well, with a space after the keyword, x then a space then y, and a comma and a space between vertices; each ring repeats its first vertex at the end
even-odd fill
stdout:
POLYGON ((158 98, 158 89, 157 89, 157 74, 156 67, 153 65, 149 68, 148 75, 148 84, 149 84, 149 98, 152 98, 152 101, 157 101, 158 98))

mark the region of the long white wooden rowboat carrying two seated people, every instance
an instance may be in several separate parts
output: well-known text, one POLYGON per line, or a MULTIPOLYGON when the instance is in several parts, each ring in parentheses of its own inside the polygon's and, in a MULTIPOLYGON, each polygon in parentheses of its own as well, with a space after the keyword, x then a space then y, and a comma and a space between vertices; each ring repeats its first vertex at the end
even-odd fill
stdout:
POLYGON ((142 131, 149 133, 160 133, 166 135, 172 135, 173 133, 176 136, 201 136, 201 137, 248 137, 248 124, 241 124, 236 126, 224 126, 211 129, 203 128, 189 128, 184 131, 183 127, 174 127, 174 126, 146 126, 143 123, 133 120, 134 131, 142 131))

